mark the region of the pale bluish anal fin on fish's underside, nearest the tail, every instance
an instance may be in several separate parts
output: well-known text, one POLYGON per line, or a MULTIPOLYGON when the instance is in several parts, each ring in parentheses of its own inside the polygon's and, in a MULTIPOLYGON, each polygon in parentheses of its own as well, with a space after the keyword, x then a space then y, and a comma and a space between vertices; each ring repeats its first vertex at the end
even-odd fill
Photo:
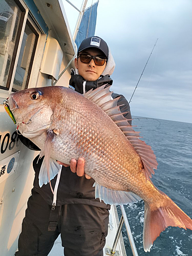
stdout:
POLYGON ((93 184, 93 187, 95 187, 95 198, 99 198, 100 201, 103 200, 105 204, 122 205, 136 203, 141 200, 139 196, 131 191, 127 192, 110 189, 101 186, 96 182, 93 184))

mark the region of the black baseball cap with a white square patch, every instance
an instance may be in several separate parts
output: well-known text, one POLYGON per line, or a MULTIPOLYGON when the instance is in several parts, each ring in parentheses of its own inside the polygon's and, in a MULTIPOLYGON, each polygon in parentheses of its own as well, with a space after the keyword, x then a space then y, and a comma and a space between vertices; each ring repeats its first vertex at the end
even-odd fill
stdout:
POLYGON ((81 52, 82 50, 88 49, 88 48, 97 48, 104 53, 106 58, 108 58, 108 54, 109 54, 108 45, 99 36, 91 36, 91 37, 84 39, 79 46, 77 56, 79 55, 79 52, 81 52))

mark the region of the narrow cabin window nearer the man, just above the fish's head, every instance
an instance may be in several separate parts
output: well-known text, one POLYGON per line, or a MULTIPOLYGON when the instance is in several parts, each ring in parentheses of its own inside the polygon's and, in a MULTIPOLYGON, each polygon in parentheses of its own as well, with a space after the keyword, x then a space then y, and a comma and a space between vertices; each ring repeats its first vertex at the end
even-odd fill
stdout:
POLYGON ((13 81, 12 91, 14 92, 24 90, 28 87, 37 38, 37 32, 33 29, 29 20, 27 20, 13 81))

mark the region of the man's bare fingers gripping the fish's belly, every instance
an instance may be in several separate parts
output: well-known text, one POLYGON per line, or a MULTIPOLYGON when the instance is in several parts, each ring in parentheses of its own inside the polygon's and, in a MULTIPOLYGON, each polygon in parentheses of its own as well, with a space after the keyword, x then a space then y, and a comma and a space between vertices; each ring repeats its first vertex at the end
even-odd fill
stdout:
POLYGON ((91 177, 89 175, 84 173, 84 159, 82 157, 79 157, 78 160, 71 159, 70 165, 61 163, 59 161, 57 161, 57 163, 62 164, 65 167, 70 166, 71 172, 76 173, 77 176, 79 176, 79 177, 82 177, 84 175, 86 177, 86 179, 88 179, 88 180, 91 179, 91 177))

